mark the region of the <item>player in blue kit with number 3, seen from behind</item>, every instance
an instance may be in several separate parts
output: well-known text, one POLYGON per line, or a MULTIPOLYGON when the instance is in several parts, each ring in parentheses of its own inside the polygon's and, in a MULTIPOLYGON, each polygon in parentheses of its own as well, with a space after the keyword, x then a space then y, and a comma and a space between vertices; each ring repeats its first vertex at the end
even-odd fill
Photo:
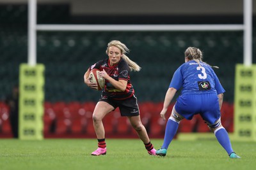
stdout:
POLYGON ((202 61, 202 52, 198 48, 189 47, 185 51, 185 63, 173 74, 164 99, 163 110, 160 113, 163 120, 166 119, 164 115, 173 96, 181 88, 181 95, 177 98, 166 124, 163 146, 157 150, 156 154, 163 157, 166 155, 180 120, 183 118, 191 120, 194 115, 199 113, 229 157, 240 158, 234 153, 228 133, 221 125, 220 109, 225 90, 212 67, 202 61))

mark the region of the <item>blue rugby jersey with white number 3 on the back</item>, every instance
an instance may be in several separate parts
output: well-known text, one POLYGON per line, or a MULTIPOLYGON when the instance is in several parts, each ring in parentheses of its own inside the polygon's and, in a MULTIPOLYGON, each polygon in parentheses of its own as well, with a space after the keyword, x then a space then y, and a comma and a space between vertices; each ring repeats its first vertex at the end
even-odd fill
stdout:
POLYGON ((182 88, 182 95, 225 92, 212 67, 205 62, 200 65, 195 60, 182 64, 173 74, 169 88, 182 88))

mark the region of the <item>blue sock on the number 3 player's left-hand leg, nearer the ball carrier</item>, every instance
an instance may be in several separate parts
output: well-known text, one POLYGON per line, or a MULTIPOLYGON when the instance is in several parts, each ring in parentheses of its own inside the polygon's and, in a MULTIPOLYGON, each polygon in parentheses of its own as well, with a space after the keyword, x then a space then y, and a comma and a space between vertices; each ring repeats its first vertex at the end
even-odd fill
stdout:
POLYGON ((168 148, 168 146, 170 145, 172 139, 174 138, 177 132, 178 127, 179 127, 179 124, 177 122, 174 122, 173 120, 168 119, 168 122, 165 128, 164 143, 161 148, 166 148, 166 149, 168 148))

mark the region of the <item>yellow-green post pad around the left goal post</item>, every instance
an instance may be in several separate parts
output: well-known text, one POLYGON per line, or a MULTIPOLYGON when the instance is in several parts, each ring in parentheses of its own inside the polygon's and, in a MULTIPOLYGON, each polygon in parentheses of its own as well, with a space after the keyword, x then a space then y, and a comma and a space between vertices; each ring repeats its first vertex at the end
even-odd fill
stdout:
POLYGON ((44 139, 43 64, 20 64, 19 139, 44 139))

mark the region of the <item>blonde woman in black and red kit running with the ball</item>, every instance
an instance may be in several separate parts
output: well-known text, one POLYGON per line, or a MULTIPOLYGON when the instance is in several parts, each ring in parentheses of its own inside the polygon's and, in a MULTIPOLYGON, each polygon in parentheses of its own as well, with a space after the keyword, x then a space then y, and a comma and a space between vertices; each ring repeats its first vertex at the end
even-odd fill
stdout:
POLYGON ((92 69, 99 69, 99 76, 105 79, 105 88, 93 111, 93 127, 98 139, 98 148, 92 152, 92 155, 106 155, 102 119, 117 107, 120 109, 121 116, 129 119, 148 153, 156 155, 156 150, 150 143, 147 131, 141 123, 137 98, 130 80, 130 71, 140 71, 141 67, 125 55, 127 52, 129 49, 120 41, 109 42, 106 50, 108 58, 96 62, 84 74, 84 83, 92 89, 97 89, 97 84, 90 82, 89 74, 92 69))

